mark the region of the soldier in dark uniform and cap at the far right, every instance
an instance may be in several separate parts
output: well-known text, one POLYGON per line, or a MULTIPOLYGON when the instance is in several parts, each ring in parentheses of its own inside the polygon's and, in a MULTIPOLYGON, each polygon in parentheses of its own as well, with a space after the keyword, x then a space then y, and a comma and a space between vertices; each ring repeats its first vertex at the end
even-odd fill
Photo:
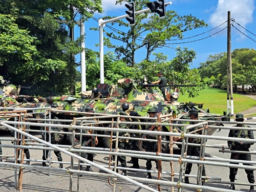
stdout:
MULTIPOLYGON (((237 122, 243 122, 244 121, 244 115, 243 114, 237 114, 236 115, 236 121, 237 122)), ((237 127, 250 127, 243 124, 237 124, 237 127)), ((230 130, 228 137, 237 137, 237 138, 249 138, 254 139, 253 132, 247 131, 244 129, 241 130, 230 130)), ((239 142, 239 141, 227 141, 228 148, 233 151, 243 151, 243 152, 249 152, 250 146, 253 144, 253 142, 239 142)), ((230 159, 236 159, 236 160, 245 160, 250 161, 251 160, 251 154, 239 154, 239 153, 231 153, 230 159)), ((231 163, 231 164, 238 164, 238 163, 231 163)), ((253 164, 250 163, 243 163, 244 165, 253 166, 253 164)), ((229 167, 229 179, 230 182, 234 182, 236 179, 236 175, 238 172, 238 168, 229 167)), ((249 183, 254 183, 254 175, 253 170, 245 169, 245 172, 247 174, 247 178, 249 183)), ((229 189, 235 190, 235 187, 233 184, 230 185, 229 189)), ((254 187, 250 186, 250 192, 254 191, 254 187)))

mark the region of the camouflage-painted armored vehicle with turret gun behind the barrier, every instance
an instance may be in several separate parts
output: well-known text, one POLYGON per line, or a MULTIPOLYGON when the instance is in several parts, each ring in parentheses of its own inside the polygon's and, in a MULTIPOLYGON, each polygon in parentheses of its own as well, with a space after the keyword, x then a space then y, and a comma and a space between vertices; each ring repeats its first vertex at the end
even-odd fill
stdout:
MULTIPOLYGON (((85 112, 88 107, 93 108, 95 113, 100 114, 119 114, 122 111, 126 111, 129 114, 130 111, 136 110, 140 116, 148 116, 148 109, 154 108, 157 111, 157 115, 172 114, 173 118, 187 119, 187 111, 177 101, 179 89, 176 87, 179 86, 165 86, 164 93, 158 87, 160 86, 153 85, 150 81, 147 81, 146 76, 139 81, 125 78, 119 79, 118 83, 112 86, 98 84, 98 92, 95 95, 100 93, 103 98, 94 97, 94 93, 90 91, 82 92, 79 96, 38 97, 39 102, 35 107, 51 106, 58 110, 67 111, 65 113, 57 113, 57 117, 60 119, 72 119, 80 116, 76 112, 85 112), (170 87, 174 89, 172 90, 170 87)), ((40 112, 40 110, 37 112, 40 112)), ((200 111, 199 119, 215 120, 216 118, 211 114, 200 111)), ((226 119, 223 118, 222 120, 226 119)), ((108 124, 105 126, 108 126, 108 124)), ((168 132, 169 127, 164 126, 163 130, 168 132)), ((174 132, 179 132, 179 130, 174 129, 174 132)), ((208 133, 212 134, 213 132, 208 133)), ((180 138, 176 137, 174 140, 178 141, 180 138)))

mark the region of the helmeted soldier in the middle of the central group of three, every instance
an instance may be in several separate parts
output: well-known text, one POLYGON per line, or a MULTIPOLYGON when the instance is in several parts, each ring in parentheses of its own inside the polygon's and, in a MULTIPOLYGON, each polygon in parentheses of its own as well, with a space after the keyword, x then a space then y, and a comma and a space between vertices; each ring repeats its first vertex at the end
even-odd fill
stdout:
MULTIPOLYGON (((131 111, 130 113, 130 116, 134 116, 134 117, 138 117, 138 113, 136 111, 131 111)), ((132 118, 132 121, 133 122, 140 122, 139 119, 135 119, 135 118, 132 118)), ((131 130, 139 130, 140 129, 140 125, 136 125, 136 124, 132 124, 130 126, 130 129, 131 130)), ((139 134, 136 134, 136 133, 131 133, 131 137, 139 137, 139 134)), ((131 146, 131 150, 132 151, 138 151, 138 140, 129 140, 129 145, 131 146)), ((133 163, 133 166, 130 166, 130 168, 140 168, 139 166, 139 158, 137 157, 132 157, 132 163, 133 163)))

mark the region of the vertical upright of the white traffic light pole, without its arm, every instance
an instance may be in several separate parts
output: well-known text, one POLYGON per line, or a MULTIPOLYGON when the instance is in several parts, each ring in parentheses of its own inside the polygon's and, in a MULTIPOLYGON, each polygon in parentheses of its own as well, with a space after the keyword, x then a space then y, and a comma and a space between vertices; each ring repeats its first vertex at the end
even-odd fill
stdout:
POLYGON ((100 60, 100 83, 104 83, 104 53, 103 53, 103 27, 101 23, 103 19, 99 19, 99 60, 100 60))

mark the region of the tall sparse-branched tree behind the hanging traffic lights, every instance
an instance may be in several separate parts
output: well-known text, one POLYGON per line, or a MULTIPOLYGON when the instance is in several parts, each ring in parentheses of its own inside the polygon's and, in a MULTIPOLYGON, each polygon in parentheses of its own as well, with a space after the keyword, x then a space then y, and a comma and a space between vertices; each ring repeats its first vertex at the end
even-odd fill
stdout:
MULTIPOLYGON (((142 10, 146 7, 148 0, 136 0, 136 10, 142 10)), ((118 0, 117 4, 121 4, 122 0, 118 0)), ((111 17, 104 17, 103 19, 110 19, 111 17)), ((112 25, 128 27, 129 24, 122 20, 113 22, 112 25)), ((170 47, 166 44, 167 40, 173 37, 182 38, 183 32, 205 27, 207 24, 192 15, 180 16, 175 11, 166 11, 164 18, 159 18, 157 14, 145 12, 136 15, 136 24, 131 26, 127 33, 106 32, 110 38, 120 40, 124 46, 112 45, 107 41, 109 48, 114 48, 117 54, 117 59, 124 60, 127 65, 135 66, 135 52, 141 48, 146 49, 145 60, 150 60, 150 55, 158 48, 170 47), (142 37, 145 36, 145 37, 142 37)))

